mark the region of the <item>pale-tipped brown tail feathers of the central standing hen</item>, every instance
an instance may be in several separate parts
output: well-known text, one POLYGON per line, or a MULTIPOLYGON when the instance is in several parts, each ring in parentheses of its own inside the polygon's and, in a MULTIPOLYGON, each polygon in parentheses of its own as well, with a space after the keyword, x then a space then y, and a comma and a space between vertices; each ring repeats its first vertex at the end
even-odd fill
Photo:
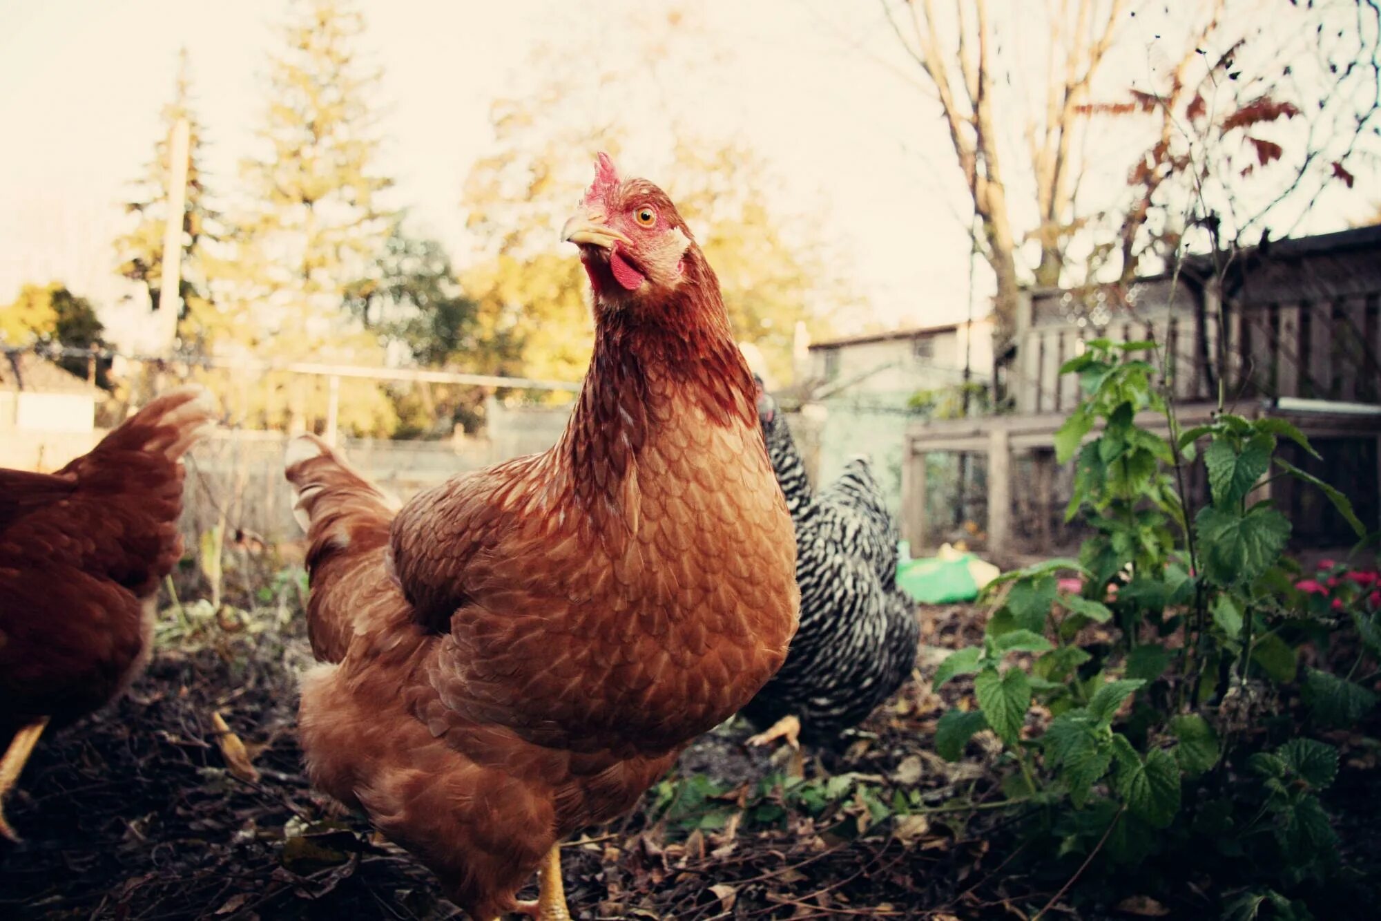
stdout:
POLYGON ((338 662, 360 618, 402 602, 384 560, 396 502, 316 436, 293 438, 283 466, 296 494, 293 514, 307 531, 312 651, 338 662))

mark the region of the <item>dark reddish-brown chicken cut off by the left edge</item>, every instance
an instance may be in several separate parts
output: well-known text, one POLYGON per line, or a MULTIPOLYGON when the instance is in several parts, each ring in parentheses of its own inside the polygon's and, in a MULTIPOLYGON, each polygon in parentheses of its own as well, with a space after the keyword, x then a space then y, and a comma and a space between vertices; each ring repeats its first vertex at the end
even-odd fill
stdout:
MULTIPOLYGON (((175 390, 57 473, 0 470, 0 798, 44 727, 104 707, 148 660, 182 555, 182 455, 211 413, 175 390)), ((17 839, 3 813, 0 834, 17 839)))

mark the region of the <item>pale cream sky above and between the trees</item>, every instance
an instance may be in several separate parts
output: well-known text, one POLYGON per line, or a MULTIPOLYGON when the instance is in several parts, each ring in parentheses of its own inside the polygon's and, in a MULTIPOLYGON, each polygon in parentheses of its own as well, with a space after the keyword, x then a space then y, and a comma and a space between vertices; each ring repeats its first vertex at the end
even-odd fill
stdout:
MULTIPOLYGON (((384 71, 381 167, 398 180, 395 203, 410 209, 414 231, 456 253, 465 243, 460 184, 493 141, 489 105, 525 84, 532 48, 569 48, 569 66, 579 68, 619 54, 620 24, 648 10, 626 0, 360 7, 365 50, 384 71)), ((688 73, 678 90, 692 90, 710 123, 755 148, 787 196, 824 201, 826 236, 871 306, 845 326, 961 319, 968 242, 956 214, 965 194, 934 108, 878 62, 898 61, 880 8, 833 0, 695 8, 708 39, 686 40, 707 41, 725 59, 688 73)), ((282 11, 282 0, 0 0, 0 303, 23 282, 61 279, 102 310, 117 304, 127 290, 110 248, 119 203, 152 155, 184 44, 211 144, 209 181, 221 192, 236 187, 282 11)), ((635 134, 638 113, 626 115, 635 134)), ((1362 176, 1362 188, 1374 192, 1374 180, 1362 176)), ((1369 210, 1360 192, 1329 196, 1309 228, 1335 230, 1369 210)), ((108 322, 120 315, 108 311, 108 322)))

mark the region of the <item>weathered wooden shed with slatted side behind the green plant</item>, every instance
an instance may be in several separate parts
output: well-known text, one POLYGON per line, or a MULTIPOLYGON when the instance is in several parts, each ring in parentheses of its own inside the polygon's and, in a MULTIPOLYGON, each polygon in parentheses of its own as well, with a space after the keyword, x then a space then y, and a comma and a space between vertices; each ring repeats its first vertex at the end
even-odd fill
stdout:
MULTIPOLYGON (((1190 256, 1177 274, 1142 278, 1126 290, 1030 290, 1005 369, 1016 413, 907 429, 903 531, 913 546, 925 545, 925 455, 976 452, 987 459, 989 549, 1026 543, 1043 550, 1056 542, 1055 509, 1063 508, 1068 472, 1055 469, 1054 433, 1079 401, 1077 380, 1062 378, 1059 366, 1094 337, 1159 343, 1185 427, 1211 418, 1219 390, 1235 412, 1290 418, 1317 443, 1324 462, 1293 445, 1283 452, 1346 490, 1363 521, 1377 527, 1378 300, 1381 225, 1232 256, 1190 256)), ((1273 498, 1294 513, 1298 541, 1345 542, 1341 521, 1311 491, 1280 485, 1273 498)))

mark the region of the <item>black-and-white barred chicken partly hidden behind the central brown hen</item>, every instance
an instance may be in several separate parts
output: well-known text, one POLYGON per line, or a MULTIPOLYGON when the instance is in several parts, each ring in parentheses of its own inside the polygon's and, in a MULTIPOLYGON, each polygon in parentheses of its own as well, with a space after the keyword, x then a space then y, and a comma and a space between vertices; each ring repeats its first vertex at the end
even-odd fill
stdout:
POLYGON ((750 744, 836 741, 911 673, 920 624, 896 586, 898 530, 866 458, 812 491, 786 418, 762 391, 768 458, 795 524, 801 625, 786 664, 742 711, 758 729, 750 744))

